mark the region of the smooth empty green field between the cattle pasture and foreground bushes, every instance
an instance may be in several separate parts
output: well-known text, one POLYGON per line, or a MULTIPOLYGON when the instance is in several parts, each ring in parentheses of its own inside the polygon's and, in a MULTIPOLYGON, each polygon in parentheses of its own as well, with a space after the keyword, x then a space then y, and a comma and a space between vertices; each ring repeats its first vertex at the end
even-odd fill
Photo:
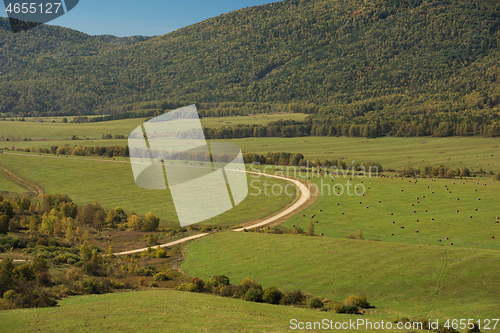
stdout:
POLYGON ((365 294, 372 311, 392 321, 498 318, 498 262, 500 251, 492 250, 224 232, 191 244, 182 267, 201 278, 253 278, 335 301, 365 294))

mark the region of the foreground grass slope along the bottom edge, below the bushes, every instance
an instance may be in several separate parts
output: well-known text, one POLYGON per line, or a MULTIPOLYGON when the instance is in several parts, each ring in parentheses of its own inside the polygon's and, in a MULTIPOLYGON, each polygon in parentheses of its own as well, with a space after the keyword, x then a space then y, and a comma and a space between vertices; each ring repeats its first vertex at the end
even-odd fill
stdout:
POLYGON ((245 302, 206 294, 152 290, 71 297, 60 301, 60 306, 56 308, 1 311, 0 331, 293 332, 289 329, 292 318, 303 322, 319 322, 323 319, 349 322, 349 319, 357 320, 360 316, 245 302))

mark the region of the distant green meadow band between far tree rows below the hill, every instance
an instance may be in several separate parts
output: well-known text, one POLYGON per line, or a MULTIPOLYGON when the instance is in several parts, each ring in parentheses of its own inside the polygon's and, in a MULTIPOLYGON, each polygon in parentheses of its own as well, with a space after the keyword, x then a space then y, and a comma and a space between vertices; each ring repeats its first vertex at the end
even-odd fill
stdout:
MULTIPOLYGON (((258 114, 252 116, 207 117, 201 120, 205 127, 236 126, 238 124, 266 124, 278 119, 300 120, 307 115, 258 114)), ((102 135, 111 133, 128 136, 144 122, 144 118, 125 119, 101 123, 52 123, 0 121, 0 147, 49 148, 62 146, 125 146, 126 139, 102 140, 102 135), (79 140, 71 140, 76 135, 79 140), (9 141, 5 141, 9 138, 9 141), (24 140, 26 138, 26 140, 24 140), (4 140, 4 141, 1 141, 4 140)), ((447 167, 468 167, 473 171, 500 171, 500 140, 482 137, 415 137, 376 139, 348 137, 300 137, 300 138, 245 138, 224 140, 239 145, 243 152, 264 154, 267 152, 302 153, 306 159, 343 159, 348 164, 376 161, 384 169, 400 170, 412 165, 423 168, 426 165, 447 167)))

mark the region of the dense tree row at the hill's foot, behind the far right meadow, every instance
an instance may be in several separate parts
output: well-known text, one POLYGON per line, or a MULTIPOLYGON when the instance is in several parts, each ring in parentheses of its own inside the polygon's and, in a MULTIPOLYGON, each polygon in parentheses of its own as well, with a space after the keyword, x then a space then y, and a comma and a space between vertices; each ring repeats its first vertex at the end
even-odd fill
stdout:
MULTIPOLYGON (((380 136, 500 136, 499 113, 488 117, 471 116, 443 120, 439 116, 421 116, 414 120, 357 117, 310 117, 303 122, 281 120, 268 125, 204 128, 207 139, 233 139, 247 137, 301 137, 301 136, 345 136, 376 138, 380 136)), ((413 117, 412 117, 413 118, 413 117)), ((448 117, 442 117, 448 118, 448 117)))

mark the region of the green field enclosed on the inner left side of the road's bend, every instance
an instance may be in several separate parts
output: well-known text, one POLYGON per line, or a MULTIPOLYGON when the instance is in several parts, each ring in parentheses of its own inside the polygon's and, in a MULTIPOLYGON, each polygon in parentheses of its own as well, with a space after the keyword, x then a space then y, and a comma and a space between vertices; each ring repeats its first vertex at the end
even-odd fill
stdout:
MULTIPOLYGON (((55 157, 38 154, 0 155, 0 165, 15 174, 42 186, 50 194, 69 195, 79 205, 99 202, 105 208, 122 207, 138 214, 153 212, 162 219, 162 226, 178 225, 169 191, 146 190, 134 182, 132 169, 125 159, 91 159, 55 157)), ((273 184, 284 184, 272 180, 273 184)), ((12 184, 11 184, 12 185, 12 184)), ((4 184, 5 190, 19 190, 4 184)), ((263 186, 256 183, 255 186, 263 186)), ((202 224, 232 226, 264 218, 285 207, 294 197, 248 195, 236 208, 203 221, 202 224)))

